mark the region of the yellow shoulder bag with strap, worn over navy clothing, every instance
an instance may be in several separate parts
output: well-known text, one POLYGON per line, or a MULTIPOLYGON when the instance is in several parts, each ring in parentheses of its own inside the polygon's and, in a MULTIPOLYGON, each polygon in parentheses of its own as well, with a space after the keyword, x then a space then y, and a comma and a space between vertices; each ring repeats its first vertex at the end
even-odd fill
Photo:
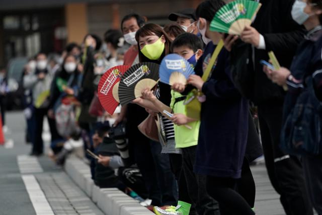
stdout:
MULTIPOLYGON (((220 40, 218 45, 216 46, 213 54, 211 55, 209 64, 202 75, 202 80, 206 82, 210 76, 211 69, 213 64, 216 62, 218 55, 223 47, 223 41, 220 40)), ((184 101, 184 105, 186 107, 187 116, 193 119, 200 120, 200 112, 201 112, 201 103, 198 100, 198 97, 203 96, 201 92, 194 89, 190 93, 188 93, 186 100, 184 101)))

